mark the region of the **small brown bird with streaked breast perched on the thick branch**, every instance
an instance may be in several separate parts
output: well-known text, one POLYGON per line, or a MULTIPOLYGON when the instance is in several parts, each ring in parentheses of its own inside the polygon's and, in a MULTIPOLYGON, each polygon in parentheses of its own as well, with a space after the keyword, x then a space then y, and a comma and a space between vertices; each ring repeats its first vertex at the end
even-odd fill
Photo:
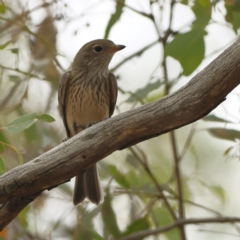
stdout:
MULTIPOLYGON (((110 118, 117 101, 117 81, 108 65, 124 45, 97 39, 82 46, 72 67, 60 78, 58 103, 67 138, 110 118)), ((85 198, 98 205, 103 201, 96 164, 80 172, 75 179, 73 204, 85 198)))

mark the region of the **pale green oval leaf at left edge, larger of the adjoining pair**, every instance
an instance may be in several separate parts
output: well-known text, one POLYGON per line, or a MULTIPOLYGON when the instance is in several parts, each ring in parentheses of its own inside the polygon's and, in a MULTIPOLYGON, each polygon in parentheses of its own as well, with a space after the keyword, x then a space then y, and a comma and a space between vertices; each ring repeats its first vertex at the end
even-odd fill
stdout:
POLYGON ((9 123, 5 129, 11 133, 19 133, 34 124, 37 121, 36 116, 36 113, 23 115, 9 123))

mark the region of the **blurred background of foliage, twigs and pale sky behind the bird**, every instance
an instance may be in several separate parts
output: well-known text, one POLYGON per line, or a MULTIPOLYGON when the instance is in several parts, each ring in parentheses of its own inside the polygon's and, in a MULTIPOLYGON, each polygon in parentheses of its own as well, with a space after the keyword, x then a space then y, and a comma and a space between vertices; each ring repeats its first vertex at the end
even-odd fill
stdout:
MULTIPOLYGON (((86 42, 126 45, 110 64, 117 115, 186 84, 238 39, 239 27, 238 0, 0 0, 0 173, 66 137, 58 83, 86 42)), ((100 161, 99 206, 74 207, 72 179, 43 192, 1 239, 118 239, 174 223, 179 207, 186 218, 239 217, 239 94, 238 87, 205 118, 100 161)), ((144 239, 232 240, 239 227, 188 225, 185 238, 175 228, 144 239)))

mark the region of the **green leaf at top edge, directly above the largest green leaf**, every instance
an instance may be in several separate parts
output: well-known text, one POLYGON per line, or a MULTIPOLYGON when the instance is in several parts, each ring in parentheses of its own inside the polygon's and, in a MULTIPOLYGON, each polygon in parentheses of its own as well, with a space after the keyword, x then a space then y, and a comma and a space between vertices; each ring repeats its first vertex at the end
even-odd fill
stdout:
POLYGON ((192 10, 196 16, 196 20, 193 22, 193 28, 205 28, 212 14, 210 0, 195 0, 192 10))

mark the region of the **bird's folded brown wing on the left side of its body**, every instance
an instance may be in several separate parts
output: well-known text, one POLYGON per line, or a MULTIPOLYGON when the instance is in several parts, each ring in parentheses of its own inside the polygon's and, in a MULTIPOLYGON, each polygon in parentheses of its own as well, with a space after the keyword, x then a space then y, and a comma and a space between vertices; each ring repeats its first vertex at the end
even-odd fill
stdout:
POLYGON ((67 120, 66 120, 66 94, 68 89, 68 83, 69 83, 69 77, 70 72, 65 72, 59 83, 58 88, 58 104, 59 104, 59 111, 63 119, 63 124, 67 132, 67 137, 70 137, 70 131, 67 126, 67 120))

